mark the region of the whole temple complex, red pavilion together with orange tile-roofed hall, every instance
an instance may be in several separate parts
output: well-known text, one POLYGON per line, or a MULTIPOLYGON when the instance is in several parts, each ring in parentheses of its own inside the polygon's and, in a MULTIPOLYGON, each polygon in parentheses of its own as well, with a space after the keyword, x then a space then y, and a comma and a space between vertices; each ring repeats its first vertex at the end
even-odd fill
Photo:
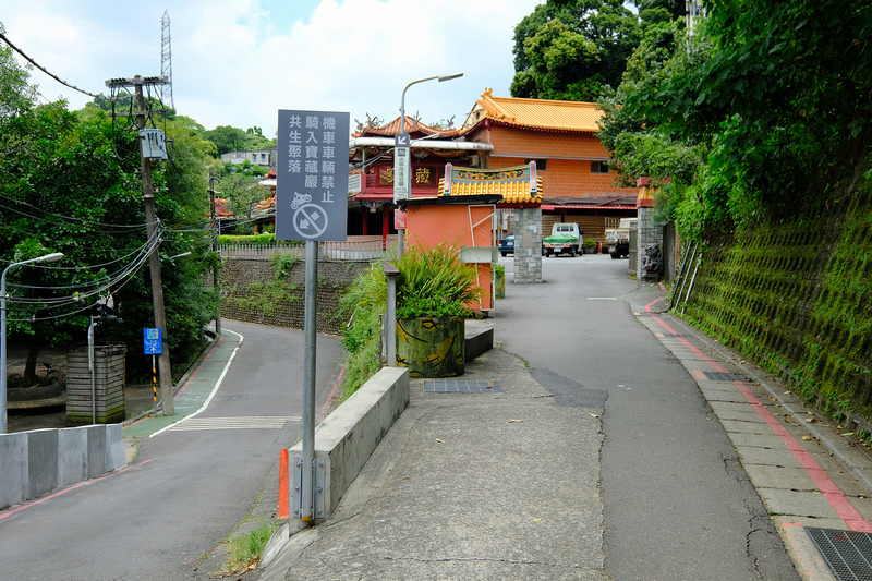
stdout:
MULTIPOLYGON (((637 215, 639 191, 614 183, 610 154, 596 136, 602 116, 590 102, 495 97, 487 89, 459 129, 434 129, 407 118, 412 137, 411 195, 436 195, 446 162, 498 169, 535 161, 547 192, 541 206, 542 230, 550 232, 554 222, 572 221, 585 238, 603 242, 607 217, 637 215)), ((352 135, 349 234, 396 233, 392 148, 399 132, 397 118, 352 135)), ((501 233, 514 231, 511 211, 498 211, 497 218, 501 233)))

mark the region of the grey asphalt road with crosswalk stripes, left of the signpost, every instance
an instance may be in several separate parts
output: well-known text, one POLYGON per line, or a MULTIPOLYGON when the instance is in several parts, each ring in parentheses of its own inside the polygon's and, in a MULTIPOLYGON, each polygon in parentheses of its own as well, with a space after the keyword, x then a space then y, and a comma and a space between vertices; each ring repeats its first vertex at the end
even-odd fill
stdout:
MULTIPOLYGON (((195 568, 245 519, 298 436, 303 402, 302 331, 232 320, 225 329, 216 349, 234 349, 235 334, 244 340, 196 417, 137 438, 123 472, 0 513, 4 579, 208 579, 195 568)), ((317 360, 324 401, 341 360, 336 338, 318 337, 317 360)), ((223 366, 199 373, 217 380, 223 366)))

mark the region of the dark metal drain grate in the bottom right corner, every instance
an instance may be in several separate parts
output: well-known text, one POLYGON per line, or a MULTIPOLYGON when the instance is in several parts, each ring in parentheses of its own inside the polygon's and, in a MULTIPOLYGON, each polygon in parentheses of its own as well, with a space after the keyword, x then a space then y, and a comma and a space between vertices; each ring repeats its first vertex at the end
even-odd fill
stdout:
POLYGON ((872 581, 872 534, 806 526, 838 581, 872 581))

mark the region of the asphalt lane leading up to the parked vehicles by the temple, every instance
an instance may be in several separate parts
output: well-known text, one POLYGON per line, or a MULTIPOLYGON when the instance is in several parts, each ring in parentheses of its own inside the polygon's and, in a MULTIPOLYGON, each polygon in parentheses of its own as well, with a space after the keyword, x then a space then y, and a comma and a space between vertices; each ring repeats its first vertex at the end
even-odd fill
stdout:
MULTIPOLYGON (((500 262, 511 281, 512 257, 500 262)), ((507 285, 495 337, 556 404, 604 406, 602 465, 591 469, 602 469, 606 573, 798 579, 695 382, 635 320, 663 291, 608 255, 542 264, 542 285, 507 285)))

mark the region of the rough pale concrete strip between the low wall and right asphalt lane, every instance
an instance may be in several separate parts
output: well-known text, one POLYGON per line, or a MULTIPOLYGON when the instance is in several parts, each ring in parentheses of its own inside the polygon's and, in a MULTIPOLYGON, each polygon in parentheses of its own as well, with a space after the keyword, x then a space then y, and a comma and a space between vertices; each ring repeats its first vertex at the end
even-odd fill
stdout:
POLYGON ((413 379, 336 515, 295 534, 262 580, 606 579, 602 408, 555 407, 500 350, 460 379, 501 391, 433 394, 413 379))

